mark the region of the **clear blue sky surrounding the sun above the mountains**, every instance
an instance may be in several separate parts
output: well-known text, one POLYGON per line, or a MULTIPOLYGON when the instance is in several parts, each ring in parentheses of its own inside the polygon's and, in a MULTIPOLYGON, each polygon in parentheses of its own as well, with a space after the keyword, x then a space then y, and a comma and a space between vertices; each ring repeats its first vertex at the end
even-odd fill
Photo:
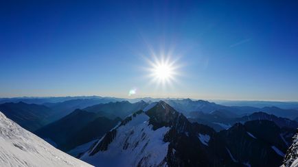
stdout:
POLYGON ((0 97, 298 100, 295 1, 1 1, 0 97), (170 55, 172 81, 148 60, 170 55))

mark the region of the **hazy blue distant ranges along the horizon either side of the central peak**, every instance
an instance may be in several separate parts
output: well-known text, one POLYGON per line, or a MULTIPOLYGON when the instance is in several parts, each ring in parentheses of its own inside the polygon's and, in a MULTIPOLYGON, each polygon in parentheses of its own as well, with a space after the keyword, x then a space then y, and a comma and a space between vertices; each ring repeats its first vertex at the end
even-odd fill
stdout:
MULTIPOLYGON (((69 99, 70 97, 66 98, 69 99)), ((152 101, 130 103, 128 101, 117 100, 119 99, 109 97, 88 97, 87 99, 71 99, 58 103, 43 103, 44 105, 30 105, 23 102, 3 103, 0 105, 0 109, 9 118, 16 121, 16 123, 19 123, 25 129, 33 132, 54 120, 67 116, 67 114, 70 114, 76 109, 83 109, 88 112, 97 113, 98 116, 114 119, 117 117, 125 118, 137 110, 144 109, 149 103, 153 103, 152 101)), ((166 99, 165 102, 169 103, 175 110, 183 113, 185 116, 196 119, 191 120, 192 122, 196 121, 198 123, 209 125, 217 131, 231 127, 231 125, 235 123, 235 121, 229 123, 229 121, 225 120, 226 118, 220 120, 220 117, 222 116, 232 116, 236 118, 252 114, 253 112, 266 112, 268 114, 274 114, 275 116, 290 118, 292 120, 298 117, 298 110, 284 110, 278 107, 229 107, 210 103, 208 101, 192 101, 191 99, 166 99), (202 112, 200 118, 194 117, 193 114, 196 112, 202 112), (220 112, 217 120, 205 118, 208 115, 211 116, 211 113, 214 115, 214 112, 220 112)))

